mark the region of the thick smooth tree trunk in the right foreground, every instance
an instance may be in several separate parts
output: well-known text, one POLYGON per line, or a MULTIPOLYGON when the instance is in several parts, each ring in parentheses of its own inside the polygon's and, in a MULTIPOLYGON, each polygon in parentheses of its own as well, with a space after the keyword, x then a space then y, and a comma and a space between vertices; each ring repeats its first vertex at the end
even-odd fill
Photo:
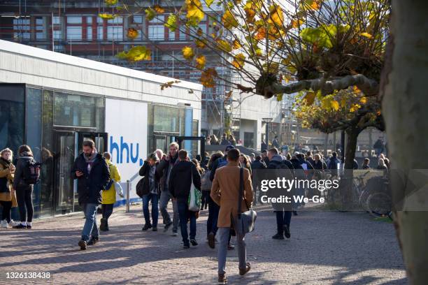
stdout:
MULTIPOLYGON (((381 95, 392 168, 405 171, 428 169, 428 5, 426 0, 392 0, 389 49, 381 95), (388 61, 389 60, 389 61, 388 61)), ((414 173, 414 172, 413 172, 414 173)), ((392 175, 391 175, 392 176, 392 175)), ((394 203, 406 196, 408 183, 391 183, 394 203)), ((422 191, 423 189, 420 189, 422 191)), ((426 196, 418 199, 425 211, 415 211, 404 200, 395 226, 411 284, 428 280, 428 211, 426 196), (425 199, 425 200, 424 200, 425 199)), ((414 206, 414 204, 413 204, 414 206)))

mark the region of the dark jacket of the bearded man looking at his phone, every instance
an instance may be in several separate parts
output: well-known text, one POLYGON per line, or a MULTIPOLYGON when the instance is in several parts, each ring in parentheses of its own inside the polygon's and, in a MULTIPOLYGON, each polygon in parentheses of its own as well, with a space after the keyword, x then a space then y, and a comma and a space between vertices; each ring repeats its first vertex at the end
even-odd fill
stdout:
POLYGON ((101 204, 101 191, 106 190, 106 186, 110 182, 110 170, 108 170, 106 159, 101 154, 97 154, 96 157, 90 173, 87 173, 87 162, 83 153, 74 161, 71 177, 78 180, 80 205, 84 203, 101 204), (78 170, 83 172, 80 177, 76 176, 78 170))

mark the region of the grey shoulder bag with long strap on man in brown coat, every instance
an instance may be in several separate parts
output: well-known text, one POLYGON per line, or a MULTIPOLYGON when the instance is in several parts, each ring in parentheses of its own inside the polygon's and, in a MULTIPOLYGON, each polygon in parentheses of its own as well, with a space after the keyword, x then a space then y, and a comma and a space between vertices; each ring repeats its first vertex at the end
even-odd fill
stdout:
POLYGON ((248 207, 247 200, 244 198, 247 211, 241 212, 241 204, 243 198, 243 168, 239 170, 239 199, 238 199, 238 217, 235 220, 234 228, 238 235, 245 235, 251 233, 255 228, 255 220, 257 213, 248 207))

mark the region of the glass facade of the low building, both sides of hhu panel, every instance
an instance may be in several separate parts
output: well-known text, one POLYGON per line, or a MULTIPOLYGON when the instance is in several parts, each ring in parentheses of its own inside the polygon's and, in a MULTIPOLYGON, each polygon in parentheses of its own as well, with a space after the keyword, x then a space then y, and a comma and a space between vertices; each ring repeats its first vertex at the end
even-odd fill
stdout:
MULTIPOLYGON (((105 105, 104 96, 0 84, 0 149, 9 147, 16 154, 27 144, 42 163, 41 182, 34 186, 35 218, 81 210, 71 168, 87 138, 100 153, 107 151, 105 105)), ((199 122, 189 119, 188 110, 192 108, 148 104, 148 152, 166 152, 176 136, 197 132, 199 122)), ((13 216, 17 219, 16 208, 13 216)))

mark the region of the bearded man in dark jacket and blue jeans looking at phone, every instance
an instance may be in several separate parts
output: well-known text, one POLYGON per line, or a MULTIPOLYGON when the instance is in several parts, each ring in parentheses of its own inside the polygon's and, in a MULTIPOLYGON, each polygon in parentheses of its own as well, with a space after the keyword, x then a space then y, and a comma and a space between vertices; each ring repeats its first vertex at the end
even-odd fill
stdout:
POLYGON ((83 153, 74 161, 71 170, 73 179, 78 180, 79 204, 85 213, 85 226, 83 226, 82 239, 79 241, 81 250, 87 245, 99 241, 97 228, 97 207, 101 204, 101 191, 106 189, 110 181, 110 171, 106 159, 97 152, 93 140, 83 141, 83 153))

